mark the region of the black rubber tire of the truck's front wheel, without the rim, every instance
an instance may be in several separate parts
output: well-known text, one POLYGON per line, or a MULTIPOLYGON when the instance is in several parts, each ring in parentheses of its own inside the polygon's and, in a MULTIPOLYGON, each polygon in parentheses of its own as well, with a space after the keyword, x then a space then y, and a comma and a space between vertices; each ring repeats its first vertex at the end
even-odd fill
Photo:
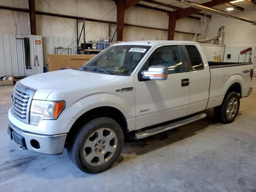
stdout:
MULTIPOLYGON (((97 138, 95 139, 95 141, 96 140, 97 138)), ((83 172, 95 174, 108 170, 116 162, 122 152, 123 145, 124 134, 120 125, 111 118, 101 117, 93 119, 90 122, 86 123, 84 126, 82 126, 80 130, 75 134, 73 140, 70 140, 70 143, 68 143, 67 151, 68 156, 77 168, 79 168, 83 172), (84 144, 90 139, 89 136, 91 136, 92 133, 95 134, 96 130, 100 130, 102 128, 109 128, 113 130, 116 134, 116 150, 113 153, 112 157, 109 158, 109 160, 105 164, 102 164, 100 166, 91 166, 86 162, 85 158, 83 157, 83 151, 85 150, 84 144)), ((91 150, 94 150, 94 148, 92 147, 91 150)))

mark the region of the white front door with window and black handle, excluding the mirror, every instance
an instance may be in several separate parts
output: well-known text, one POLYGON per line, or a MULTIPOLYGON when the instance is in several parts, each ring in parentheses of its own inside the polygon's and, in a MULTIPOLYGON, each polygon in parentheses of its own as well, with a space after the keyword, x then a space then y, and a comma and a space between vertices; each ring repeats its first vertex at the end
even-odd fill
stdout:
POLYGON ((136 129, 188 114, 190 73, 179 46, 158 46, 138 71, 135 81, 136 129), (141 70, 167 66, 167 80, 142 80, 141 70))

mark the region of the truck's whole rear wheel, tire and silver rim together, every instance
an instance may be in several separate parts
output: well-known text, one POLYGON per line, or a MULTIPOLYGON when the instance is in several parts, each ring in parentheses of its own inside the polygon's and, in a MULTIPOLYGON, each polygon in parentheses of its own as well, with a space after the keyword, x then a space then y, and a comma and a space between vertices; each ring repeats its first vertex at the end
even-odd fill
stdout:
POLYGON ((236 118, 239 107, 239 95, 231 92, 224 97, 222 105, 214 108, 214 116, 222 123, 230 123, 236 118))

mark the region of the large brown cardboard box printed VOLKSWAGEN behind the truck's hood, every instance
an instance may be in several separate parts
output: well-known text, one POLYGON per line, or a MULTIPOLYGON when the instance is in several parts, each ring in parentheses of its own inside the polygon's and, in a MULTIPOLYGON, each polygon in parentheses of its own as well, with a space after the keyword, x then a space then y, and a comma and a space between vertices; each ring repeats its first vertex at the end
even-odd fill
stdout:
POLYGON ((48 54, 48 71, 66 68, 80 68, 95 55, 48 54))

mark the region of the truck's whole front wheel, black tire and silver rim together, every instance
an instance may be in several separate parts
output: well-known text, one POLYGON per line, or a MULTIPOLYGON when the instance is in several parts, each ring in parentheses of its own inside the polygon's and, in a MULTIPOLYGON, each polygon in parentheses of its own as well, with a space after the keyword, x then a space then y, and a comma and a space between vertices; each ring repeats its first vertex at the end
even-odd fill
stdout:
POLYGON ((68 144, 70 159, 86 173, 110 168, 122 152, 124 135, 113 119, 102 117, 86 123, 68 144))

